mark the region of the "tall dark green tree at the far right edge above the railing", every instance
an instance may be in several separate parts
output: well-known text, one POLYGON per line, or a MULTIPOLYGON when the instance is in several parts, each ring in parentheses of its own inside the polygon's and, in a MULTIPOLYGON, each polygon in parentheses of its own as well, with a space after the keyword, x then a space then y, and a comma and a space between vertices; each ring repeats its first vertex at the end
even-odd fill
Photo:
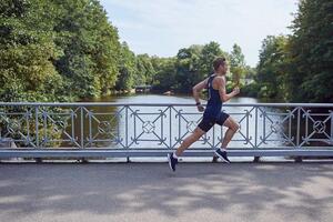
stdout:
POLYGON ((333 2, 302 0, 289 46, 287 99, 333 102, 333 2))

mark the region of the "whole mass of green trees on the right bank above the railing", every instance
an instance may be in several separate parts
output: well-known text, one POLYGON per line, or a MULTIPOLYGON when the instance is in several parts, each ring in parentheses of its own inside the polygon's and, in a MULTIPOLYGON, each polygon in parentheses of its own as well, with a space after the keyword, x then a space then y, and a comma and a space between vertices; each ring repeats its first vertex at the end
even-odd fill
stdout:
POLYGON ((268 37, 258 65, 259 95, 333 102, 333 1, 301 0, 289 37, 268 37))

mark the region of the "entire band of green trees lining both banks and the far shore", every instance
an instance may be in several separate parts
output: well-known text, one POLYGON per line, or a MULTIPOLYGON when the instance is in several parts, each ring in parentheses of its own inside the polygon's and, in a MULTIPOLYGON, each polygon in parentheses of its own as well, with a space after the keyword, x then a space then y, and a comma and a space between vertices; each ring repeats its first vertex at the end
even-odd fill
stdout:
POLYGON ((293 102, 333 102, 333 2, 300 0, 292 34, 269 36, 256 68, 241 47, 218 42, 180 49, 174 57, 134 54, 98 0, 1 0, 0 100, 77 101, 135 85, 190 92, 212 73, 212 61, 230 64, 228 89, 242 95, 293 102))

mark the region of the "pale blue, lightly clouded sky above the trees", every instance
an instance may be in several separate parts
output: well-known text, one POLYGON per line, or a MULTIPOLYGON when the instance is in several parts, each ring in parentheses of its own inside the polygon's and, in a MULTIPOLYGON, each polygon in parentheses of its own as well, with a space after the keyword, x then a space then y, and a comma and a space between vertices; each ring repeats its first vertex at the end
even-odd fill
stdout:
POLYGON ((120 40, 139 53, 174 57, 182 48, 216 41, 242 48, 255 67, 266 36, 290 34, 297 0, 101 0, 120 40))

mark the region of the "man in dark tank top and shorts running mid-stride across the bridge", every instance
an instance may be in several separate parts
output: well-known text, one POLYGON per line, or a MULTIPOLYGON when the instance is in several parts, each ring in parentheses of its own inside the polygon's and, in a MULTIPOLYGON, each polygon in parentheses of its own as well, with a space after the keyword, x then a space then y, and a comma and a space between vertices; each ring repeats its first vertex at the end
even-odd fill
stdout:
POLYGON ((224 58, 215 59, 213 62, 213 68, 214 73, 211 77, 206 78, 205 80, 199 82, 195 87, 193 87, 193 97, 196 102, 198 111, 204 111, 204 113, 202 121, 195 128, 193 133, 183 140, 183 142, 175 152, 168 154, 169 167, 172 171, 175 171, 178 158, 184 152, 184 150, 186 150, 192 143, 198 141, 215 123, 228 128, 221 148, 215 150, 215 155, 230 163, 230 160, 226 155, 226 145, 240 127, 228 113, 224 113, 221 109, 223 102, 226 102, 228 100, 240 93, 240 89, 234 88, 231 93, 226 94, 225 74, 228 71, 228 63, 224 58), (199 98, 199 93, 203 89, 208 89, 209 91, 209 101, 206 103, 205 109, 200 103, 199 98))

